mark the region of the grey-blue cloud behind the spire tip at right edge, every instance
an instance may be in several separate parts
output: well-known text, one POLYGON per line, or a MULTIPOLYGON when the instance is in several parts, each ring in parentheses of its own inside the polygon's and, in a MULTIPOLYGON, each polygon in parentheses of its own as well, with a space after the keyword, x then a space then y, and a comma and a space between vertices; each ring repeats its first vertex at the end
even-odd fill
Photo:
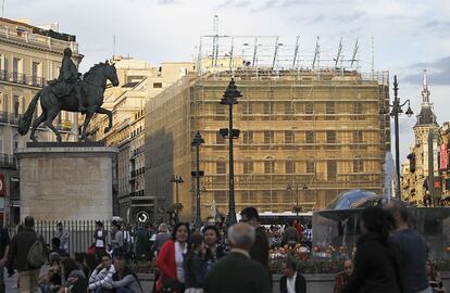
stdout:
POLYGON ((416 72, 402 78, 403 81, 420 85, 423 79, 422 71, 427 69, 428 84, 449 86, 450 85, 450 56, 441 58, 434 62, 421 62, 408 66, 410 71, 416 72))

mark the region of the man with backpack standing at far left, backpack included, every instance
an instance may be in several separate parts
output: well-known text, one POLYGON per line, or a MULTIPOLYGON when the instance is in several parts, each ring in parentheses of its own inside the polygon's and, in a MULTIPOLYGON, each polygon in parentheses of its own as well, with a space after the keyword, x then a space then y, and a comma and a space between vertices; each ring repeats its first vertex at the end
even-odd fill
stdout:
POLYGON ((11 241, 7 259, 7 268, 18 271, 18 279, 21 280, 20 292, 23 293, 37 290, 39 269, 46 262, 43 239, 38 237, 34 227, 35 219, 32 216, 26 216, 22 231, 11 241), (29 262, 30 256, 34 258, 34 264, 29 262), (42 265, 36 265, 38 263, 42 265))

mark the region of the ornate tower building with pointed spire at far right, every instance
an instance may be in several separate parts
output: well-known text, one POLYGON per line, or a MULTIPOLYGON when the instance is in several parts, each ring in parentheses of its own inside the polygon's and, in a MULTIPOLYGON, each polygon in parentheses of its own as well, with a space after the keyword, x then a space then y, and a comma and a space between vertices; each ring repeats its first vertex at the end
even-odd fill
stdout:
POLYGON ((414 125, 415 143, 403 164, 401 176, 401 198, 417 206, 430 206, 433 198, 439 194, 440 178, 438 174, 438 137, 439 125, 429 101, 430 92, 426 72, 422 90, 421 113, 414 125), (438 182, 436 184, 436 182, 438 182))

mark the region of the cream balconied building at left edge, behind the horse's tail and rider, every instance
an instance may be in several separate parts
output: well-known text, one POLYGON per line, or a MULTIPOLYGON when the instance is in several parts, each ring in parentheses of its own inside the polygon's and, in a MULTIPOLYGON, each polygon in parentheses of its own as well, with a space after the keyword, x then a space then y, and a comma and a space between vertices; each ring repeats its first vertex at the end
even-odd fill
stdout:
MULTIPOLYGON (((72 49, 74 62, 79 64, 83 55, 78 53, 75 36, 0 18, 0 196, 3 199, 0 221, 15 224, 20 220, 20 178, 13 152, 25 146, 28 136, 20 137, 17 125, 36 92, 47 80, 58 78, 65 48, 72 49)), ((40 114, 38 105, 35 117, 40 114)), ((62 112, 53 125, 63 140, 76 140, 75 114, 62 112)), ((46 127, 38 128, 37 139, 55 141, 53 132, 46 127)))

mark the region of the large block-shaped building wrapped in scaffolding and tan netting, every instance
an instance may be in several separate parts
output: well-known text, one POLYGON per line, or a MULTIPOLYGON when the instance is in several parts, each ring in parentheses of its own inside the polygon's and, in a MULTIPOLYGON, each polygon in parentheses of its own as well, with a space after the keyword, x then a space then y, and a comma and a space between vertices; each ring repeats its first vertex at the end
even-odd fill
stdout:
POLYGON ((291 212, 297 196, 302 211, 313 211, 351 189, 382 193, 390 150, 389 116, 380 114, 389 102, 387 73, 251 64, 204 71, 205 64, 221 66, 225 58, 216 58, 215 65, 212 56, 199 53, 197 73, 146 105, 146 195, 155 199, 155 220, 176 201, 173 175, 185 181, 179 184, 182 218, 193 218, 191 141, 197 130, 205 140, 200 148, 202 218, 212 216, 213 201, 221 214, 227 213, 228 146, 218 129, 227 127, 228 113, 218 102, 232 75, 242 94, 234 107, 240 129, 235 143, 237 211, 254 205, 260 212, 291 212))

